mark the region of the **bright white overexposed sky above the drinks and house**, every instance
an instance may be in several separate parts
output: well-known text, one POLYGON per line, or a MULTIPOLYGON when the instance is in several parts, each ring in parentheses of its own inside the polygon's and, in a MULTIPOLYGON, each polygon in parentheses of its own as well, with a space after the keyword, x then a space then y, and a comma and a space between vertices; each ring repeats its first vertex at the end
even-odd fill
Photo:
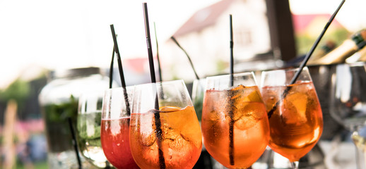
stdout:
MULTIPOLYGON (((146 56, 143 2, 148 4, 150 34, 153 38, 155 23, 160 45, 195 11, 216 1, 0 0, 0 89, 37 68, 108 68, 111 24, 124 58, 146 56)), ((293 13, 333 13, 340 2, 290 0, 290 8, 293 13)), ((351 31, 366 27, 358 22, 366 20, 362 6, 365 0, 346 1, 337 19, 351 31)))

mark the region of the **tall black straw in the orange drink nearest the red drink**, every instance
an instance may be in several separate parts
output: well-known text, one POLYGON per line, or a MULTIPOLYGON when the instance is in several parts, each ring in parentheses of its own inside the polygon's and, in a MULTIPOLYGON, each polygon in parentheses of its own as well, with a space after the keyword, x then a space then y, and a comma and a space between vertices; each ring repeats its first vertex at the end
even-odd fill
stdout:
MULTIPOLYGON (((155 83, 155 68, 154 68, 154 60, 153 60, 153 50, 151 49, 151 39, 150 39, 150 27, 148 25, 148 4, 146 2, 143 3, 143 18, 145 21, 145 33, 146 33, 146 44, 148 46, 148 61, 150 64, 150 77, 151 82, 155 83)), ((158 93, 156 93, 158 95, 158 93)), ((162 141, 162 134, 163 131, 161 130, 161 122, 160 122, 160 114, 159 114, 159 101, 158 96, 155 96, 155 111, 154 118, 155 118, 155 133, 156 133, 156 142, 158 143, 158 152, 159 152, 159 165, 161 169, 165 169, 165 159, 163 150, 161 149, 161 141, 162 141)))

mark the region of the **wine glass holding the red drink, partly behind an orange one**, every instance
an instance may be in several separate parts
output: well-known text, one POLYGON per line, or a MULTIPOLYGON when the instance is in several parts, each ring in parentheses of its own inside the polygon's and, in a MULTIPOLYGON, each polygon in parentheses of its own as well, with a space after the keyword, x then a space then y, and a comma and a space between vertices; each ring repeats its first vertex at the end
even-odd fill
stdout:
POLYGON ((102 149, 107 160, 115 168, 138 168, 131 155, 129 144, 130 115, 134 87, 117 87, 105 90, 102 102, 102 123, 100 129, 102 149), (129 106, 129 108, 127 106, 129 106))

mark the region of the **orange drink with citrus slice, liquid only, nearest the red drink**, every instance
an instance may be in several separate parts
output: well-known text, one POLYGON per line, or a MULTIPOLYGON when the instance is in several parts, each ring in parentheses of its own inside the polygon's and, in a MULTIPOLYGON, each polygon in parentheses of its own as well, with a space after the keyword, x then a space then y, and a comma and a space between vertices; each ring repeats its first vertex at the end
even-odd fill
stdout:
POLYGON ((193 106, 162 107, 131 115, 131 149, 141 168, 160 168, 154 113, 160 113, 165 168, 192 168, 199 159, 202 136, 193 106))

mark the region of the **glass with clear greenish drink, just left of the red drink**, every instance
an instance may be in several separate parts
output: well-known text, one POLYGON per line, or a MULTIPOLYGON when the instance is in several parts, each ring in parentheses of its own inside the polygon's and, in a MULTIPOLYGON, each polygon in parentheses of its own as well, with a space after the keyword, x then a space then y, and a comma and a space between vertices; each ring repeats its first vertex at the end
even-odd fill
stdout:
MULTIPOLYGON (((78 101, 77 142, 86 161, 98 168, 109 168, 100 143, 102 91, 85 92, 78 101)), ((90 168, 90 166, 88 167, 90 168)))

